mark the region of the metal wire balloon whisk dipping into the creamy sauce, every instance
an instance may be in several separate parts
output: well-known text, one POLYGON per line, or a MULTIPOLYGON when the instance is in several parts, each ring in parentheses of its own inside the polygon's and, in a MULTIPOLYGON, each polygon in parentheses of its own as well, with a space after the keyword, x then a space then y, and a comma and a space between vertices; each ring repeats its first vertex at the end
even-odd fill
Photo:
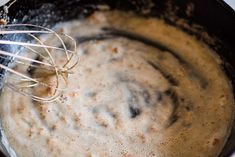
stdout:
POLYGON ((0 64, 4 86, 51 102, 66 90, 67 78, 78 63, 76 41, 63 33, 32 24, 0 26, 0 64))

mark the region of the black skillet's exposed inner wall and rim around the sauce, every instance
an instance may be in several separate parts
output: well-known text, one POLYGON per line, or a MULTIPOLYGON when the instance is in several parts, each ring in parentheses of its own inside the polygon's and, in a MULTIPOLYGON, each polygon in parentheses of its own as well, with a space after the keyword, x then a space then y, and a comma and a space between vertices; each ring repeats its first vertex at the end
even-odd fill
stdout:
MULTIPOLYGON (((98 9, 96 4, 133 11, 146 18, 163 18, 169 24, 195 35, 224 60, 222 67, 230 78, 235 93, 235 11, 222 0, 18 0, 8 14, 0 11, 0 18, 9 17, 10 23, 51 27, 59 21, 90 15, 98 9), (186 25, 177 23, 179 18, 185 19, 186 25), (211 37, 213 41, 210 40, 211 37)), ((0 45, 0 49, 7 48, 0 45)), ((8 61, 0 59, 0 63, 7 65, 8 61)), ((235 125, 233 126, 220 157, 228 157, 235 150, 235 125)), ((4 157, 1 154, 0 156, 4 157)))

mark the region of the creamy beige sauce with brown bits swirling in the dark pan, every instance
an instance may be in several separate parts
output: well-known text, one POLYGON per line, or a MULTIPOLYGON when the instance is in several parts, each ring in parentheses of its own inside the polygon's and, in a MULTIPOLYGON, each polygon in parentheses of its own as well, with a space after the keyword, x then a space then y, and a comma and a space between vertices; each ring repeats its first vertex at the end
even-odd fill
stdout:
POLYGON ((4 88, 1 122, 18 156, 217 156, 233 118, 219 58, 164 21, 131 13, 97 12, 55 29, 81 39, 105 33, 103 27, 158 41, 178 58, 120 36, 91 40, 78 44, 69 90, 55 102, 37 103, 4 88))

